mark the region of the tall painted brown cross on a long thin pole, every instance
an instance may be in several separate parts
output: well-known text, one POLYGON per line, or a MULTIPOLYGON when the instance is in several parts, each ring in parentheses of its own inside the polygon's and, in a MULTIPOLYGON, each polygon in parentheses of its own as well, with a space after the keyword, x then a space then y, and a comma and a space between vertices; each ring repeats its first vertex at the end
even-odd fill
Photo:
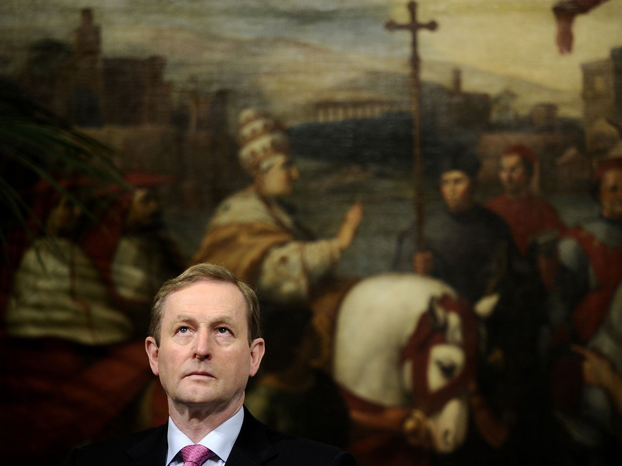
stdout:
POLYGON ((419 106, 419 96, 421 91, 421 78, 419 74, 419 50, 417 46, 417 33, 420 29, 435 30, 439 27, 436 21, 420 23, 417 21, 417 2, 410 1, 407 4, 411 13, 411 22, 408 24, 397 24, 395 21, 388 21, 384 25, 390 31, 409 30, 412 34, 412 54, 411 54, 411 93, 412 93, 412 153, 414 155, 415 170, 415 215, 417 216, 417 250, 422 251, 425 247, 424 241, 424 173, 421 161, 421 111, 419 106))

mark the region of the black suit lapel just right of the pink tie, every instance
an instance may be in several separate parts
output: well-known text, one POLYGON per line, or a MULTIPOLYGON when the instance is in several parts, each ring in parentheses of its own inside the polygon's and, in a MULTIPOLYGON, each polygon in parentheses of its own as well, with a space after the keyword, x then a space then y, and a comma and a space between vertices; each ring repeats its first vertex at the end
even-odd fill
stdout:
POLYGON ((265 464, 275 457, 277 452, 266 435, 266 427, 248 412, 246 406, 243 409, 244 422, 233 444, 227 464, 236 466, 265 464))

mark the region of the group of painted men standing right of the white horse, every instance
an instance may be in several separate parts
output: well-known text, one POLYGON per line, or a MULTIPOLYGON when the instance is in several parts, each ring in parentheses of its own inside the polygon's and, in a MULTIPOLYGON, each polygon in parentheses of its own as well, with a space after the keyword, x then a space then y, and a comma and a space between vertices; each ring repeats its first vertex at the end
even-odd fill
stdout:
POLYGON ((471 303, 493 291, 501 296, 483 324, 477 383, 510 435, 493 449, 467 441, 460 455, 477 464, 615 464, 622 159, 595 171, 598 214, 566 229, 531 191, 529 148, 503 153, 504 193, 483 206, 473 196, 476 158, 463 148, 446 155, 445 206, 427 219, 425 250, 415 250, 413 225, 399 239, 394 267, 440 278, 471 303))

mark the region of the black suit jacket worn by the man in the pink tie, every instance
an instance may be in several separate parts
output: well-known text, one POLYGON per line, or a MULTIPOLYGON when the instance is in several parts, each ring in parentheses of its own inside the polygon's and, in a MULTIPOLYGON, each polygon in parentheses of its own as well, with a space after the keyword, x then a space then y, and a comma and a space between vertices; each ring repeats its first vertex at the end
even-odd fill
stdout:
MULTIPOLYGON (((165 466, 168 424, 73 449, 66 466, 165 466)), ((228 466, 356 466, 337 447, 272 431, 244 407, 244 422, 228 466)))

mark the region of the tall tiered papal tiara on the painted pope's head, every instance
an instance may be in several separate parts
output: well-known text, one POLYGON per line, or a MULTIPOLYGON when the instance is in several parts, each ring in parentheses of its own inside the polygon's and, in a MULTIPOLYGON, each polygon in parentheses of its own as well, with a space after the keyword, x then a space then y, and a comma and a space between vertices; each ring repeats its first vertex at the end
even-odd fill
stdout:
POLYGON ((251 175, 289 158, 289 139, 285 130, 262 110, 249 108, 240 113, 238 144, 239 162, 251 175))

